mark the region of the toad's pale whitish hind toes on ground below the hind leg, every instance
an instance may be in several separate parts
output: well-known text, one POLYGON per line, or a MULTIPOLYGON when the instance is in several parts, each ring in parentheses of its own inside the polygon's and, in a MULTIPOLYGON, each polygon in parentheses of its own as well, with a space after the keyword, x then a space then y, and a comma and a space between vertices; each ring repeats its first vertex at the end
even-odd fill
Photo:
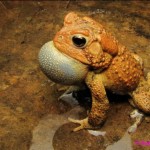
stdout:
POLYGON ((138 125, 140 125, 142 122, 143 116, 144 115, 142 113, 139 113, 138 110, 134 110, 133 112, 131 112, 130 117, 135 118, 136 121, 134 122, 132 126, 128 128, 129 133, 133 133, 136 131, 138 125))

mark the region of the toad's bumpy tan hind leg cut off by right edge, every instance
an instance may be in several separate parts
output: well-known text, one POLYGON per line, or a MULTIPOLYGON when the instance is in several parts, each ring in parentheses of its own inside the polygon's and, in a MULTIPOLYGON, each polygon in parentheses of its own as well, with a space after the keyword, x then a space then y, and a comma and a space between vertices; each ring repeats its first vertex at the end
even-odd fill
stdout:
POLYGON ((148 82, 149 77, 147 77, 147 80, 142 78, 136 90, 130 95, 135 107, 150 114, 150 84, 148 82))

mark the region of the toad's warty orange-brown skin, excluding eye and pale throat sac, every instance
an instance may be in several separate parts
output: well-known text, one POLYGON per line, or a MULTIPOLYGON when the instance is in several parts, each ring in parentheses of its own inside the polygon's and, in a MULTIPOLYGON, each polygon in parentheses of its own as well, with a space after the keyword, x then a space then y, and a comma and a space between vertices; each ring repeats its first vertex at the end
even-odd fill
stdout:
MULTIPOLYGON (((137 98, 133 99, 135 107, 150 113, 150 101, 146 101, 147 106, 142 101, 144 98, 149 99, 150 94, 139 96, 140 91, 145 89, 144 84, 147 84, 140 62, 132 52, 107 33, 100 23, 71 12, 65 17, 64 27, 53 41, 60 52, 88 65, 91 69, 85 83, 92 93, 92 108, 87 122, 77 130, 96 128, 105 121, 109 109, 105 89, 118 94, 130 94, 137 98), (77 34, 87 39, 87 43, 81 48, 72 42, 72 36, 77 34), (144 84, 140 84, 142 82, 144 84), (143 88, 138 88, 139 85, 143 88)), ((146 93, 150 93, 150 88, 146 93)))

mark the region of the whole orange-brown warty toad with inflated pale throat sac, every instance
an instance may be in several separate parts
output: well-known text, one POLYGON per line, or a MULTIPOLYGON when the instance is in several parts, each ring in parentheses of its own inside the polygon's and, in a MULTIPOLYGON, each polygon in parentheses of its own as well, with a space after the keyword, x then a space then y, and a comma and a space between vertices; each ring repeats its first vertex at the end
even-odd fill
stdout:
POLYGON ((89 88, 91 109, 83 120, 70 119, 80 124, 74 131, 103 124, 109 109, 106 90, 129 94, 135 108, 150 113, 150 80, 144 77, 141 58, 89 17, 67 14, 62 29, 41 48, 39 62, 54 82, 89 88))

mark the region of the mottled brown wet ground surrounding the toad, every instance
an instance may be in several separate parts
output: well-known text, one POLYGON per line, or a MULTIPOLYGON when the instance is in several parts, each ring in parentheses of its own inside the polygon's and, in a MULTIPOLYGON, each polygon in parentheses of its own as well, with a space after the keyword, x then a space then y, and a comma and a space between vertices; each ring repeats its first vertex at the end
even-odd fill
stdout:
MULTIPOLYGON (((32 131, 43 117, 62 115, 71 109, 58 101, 62 86, 45 77, 37 60, 41 46, 53 39, 70 11, 101 22, 122 44, 143 58, 145 73, 150 71, 148 1, 0 1, 0 150, 28 150, 32 131)), ((101 129, 106 131, 104 137, 95 137, 86 130, 74 133, 76 125, 66 123, 56 131, 53 147, 103 150, 121 139, 133 123, 129 118, 132 110, 127 98, 115 97, 101 129)), ((149 120, 147 117, 131 135, 134 150, 150 148, 135 145, 137 140, 150 141, 149 120)))

